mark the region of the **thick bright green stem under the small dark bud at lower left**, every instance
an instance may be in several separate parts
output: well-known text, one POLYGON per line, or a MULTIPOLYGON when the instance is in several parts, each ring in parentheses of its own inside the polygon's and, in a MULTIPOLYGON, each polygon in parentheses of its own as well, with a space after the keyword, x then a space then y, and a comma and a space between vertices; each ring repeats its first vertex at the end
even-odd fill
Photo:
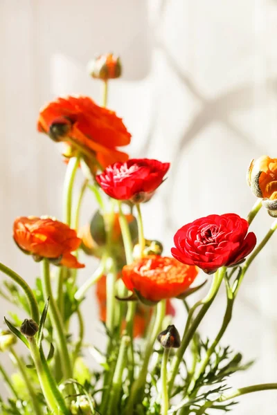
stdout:
POLYGON ((35 338, 29 338, 30 352, 35 363, 35 369, 39 378, 39 384, 42 388, 42 393, 46 400, 48 408, 53 415, 70 415, 69 409, 67 409, 64 402, 64 398, 57 387, 51 372, 49 371, 42 347, 40 350, 37 348, 35 338))

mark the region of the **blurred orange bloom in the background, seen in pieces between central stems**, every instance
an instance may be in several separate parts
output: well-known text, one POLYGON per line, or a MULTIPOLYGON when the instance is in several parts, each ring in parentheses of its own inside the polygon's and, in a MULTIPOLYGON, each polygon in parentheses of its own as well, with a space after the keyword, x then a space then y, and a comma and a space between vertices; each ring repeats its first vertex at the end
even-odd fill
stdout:
MULTIPOLYGON (((106 293, 106 276, 102 275, 96 284, 96 297, 99 306, 99 317, 102 322, 106 321, 107 317, 107 293, 106 293)), ((134 337, 143 337, 145 330, 149 324, 149 317, 152 315, 153 308, 144 306, 139 302, 136 307, 136 314, 134 316, 134 337)), ((175 308, 170 302, 166 302, 166 315, 175 315, 175 308)), ((125 322, 123 322, 123 330, 125 329, 125 322)))

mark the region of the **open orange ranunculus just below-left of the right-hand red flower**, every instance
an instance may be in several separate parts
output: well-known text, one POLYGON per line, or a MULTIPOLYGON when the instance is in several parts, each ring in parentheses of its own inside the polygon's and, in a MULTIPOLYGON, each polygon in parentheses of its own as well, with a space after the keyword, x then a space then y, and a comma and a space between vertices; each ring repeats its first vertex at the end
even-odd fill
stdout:
POLYGON ((125 265, 122 279, 128 290, 148 300, 177 297, 184 293, 197 276, 197 268, 177 259, 149 255, 125 265))

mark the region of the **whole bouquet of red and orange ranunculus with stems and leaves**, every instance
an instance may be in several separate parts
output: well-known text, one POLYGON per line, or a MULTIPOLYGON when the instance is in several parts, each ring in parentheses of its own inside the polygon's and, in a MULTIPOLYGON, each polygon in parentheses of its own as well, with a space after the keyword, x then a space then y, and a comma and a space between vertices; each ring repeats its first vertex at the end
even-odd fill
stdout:
POLYGON ((41 266, 35 287, 19 275, 21 270, 0 264, 6 277, 0 295, 26 313, 23 322, 15 313, 6 315, 0 333, 1 356, 8 353, 16 367, 10 376, 0 364, 10 392, 0 399, 1 414, 202 415, 229 412, 244 394, 277 389, 277 383, 229 388, 229 377, 252 362, 221 344, 244 276, 277 228, 275 219, 258 243, 249 232, 262 206, 277 217, 277 158, 251 162, 247 178, 257 199, 247 219, 226 213, 187 223, 172 234, 172 257, 165 257, 161 242, 145 239, 141 210, 159 192, 170 164, 129 159, 118 150, 131 138, 123 120, 107 109, 109 80, 120 76, 120 59, 101 55, 90 72, 102 82, 102 106, 86 96, 69 96, 39 111, 37 129, 64 143, 64 213, 62 221, 15 219, 17 248, 41 266), (84 181, 73 192, 77 173, 84 181), (80 228, 85 192, 91 192, 98 210, 80 228), (87 261, 98 259, 83 284, 80 249, 87 261), (204 282, 197 282, 200 273, 206 275, 204 282), (93 284, 105 350, 84 344, 88 319, 81 305, 93 284), (202 338, 199 324, 221 286, 226 308, 218 316, 219 331, 215 338, 202 338), (184 305, 184 333, 172 324, 172 298, 184 305), (73 317, 77 340, 70 332, 73 317), (24 356, 17 354, 16 342, 24 356), (86 348, 94 370, 84 359, 86 348))

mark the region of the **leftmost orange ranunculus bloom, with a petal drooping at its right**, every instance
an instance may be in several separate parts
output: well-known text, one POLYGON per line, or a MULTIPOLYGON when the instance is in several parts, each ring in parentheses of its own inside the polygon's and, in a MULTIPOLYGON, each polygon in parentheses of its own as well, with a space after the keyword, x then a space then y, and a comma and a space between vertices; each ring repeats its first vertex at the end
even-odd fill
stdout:
POLYGON ((47 258, 69 268, 84 267, 71 254, 81 239, 65 223, 44 216, 21 216, 15 219, 13 237, 17 246, 36 260, 47 258))

